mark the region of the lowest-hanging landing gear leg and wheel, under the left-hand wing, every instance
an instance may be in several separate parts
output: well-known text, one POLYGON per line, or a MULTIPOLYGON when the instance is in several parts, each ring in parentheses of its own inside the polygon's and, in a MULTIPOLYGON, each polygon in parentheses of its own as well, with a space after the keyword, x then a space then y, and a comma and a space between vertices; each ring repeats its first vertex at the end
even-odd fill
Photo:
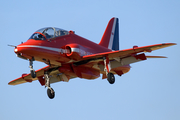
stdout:
POLYGON ((44 73, 44 78, 45 78, 45 81, 46 81, 46 84, 45 84, 45 87, 47 87, 47 95, 50 99, 53 99, 54 96, 55 96, 55 92, 54 90, 50 87, 50 81, 49 81, 49 75, 48 75, 48 72, 45 72, 44 73))

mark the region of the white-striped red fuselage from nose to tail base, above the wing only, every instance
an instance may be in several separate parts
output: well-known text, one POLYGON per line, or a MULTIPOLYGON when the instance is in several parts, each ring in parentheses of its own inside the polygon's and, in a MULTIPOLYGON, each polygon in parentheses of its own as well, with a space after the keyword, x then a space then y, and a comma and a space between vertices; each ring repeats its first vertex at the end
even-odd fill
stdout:
POLYGON ((80 56, 111 51, 76 34, 69 34, 49 40, 29 39, 18 45, 15 52, 34 57, 37 61, 44 62, 46 60, 50 61, 51 64, 59 65, 59 63, 67 63, 71 60, 65 55, 68 52, 67 46, 72 46, 71 52, 75 50, 75 52, 79 52, 80 56))

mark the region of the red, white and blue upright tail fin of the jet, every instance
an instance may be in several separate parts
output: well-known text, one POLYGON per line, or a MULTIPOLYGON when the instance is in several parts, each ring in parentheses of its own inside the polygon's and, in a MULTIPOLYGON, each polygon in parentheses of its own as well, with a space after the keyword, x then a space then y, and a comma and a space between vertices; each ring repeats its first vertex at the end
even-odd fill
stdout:
POLYGON ((99 45, 111 50, 119 50, 119 21, 112 18, 104 31, 99 45))

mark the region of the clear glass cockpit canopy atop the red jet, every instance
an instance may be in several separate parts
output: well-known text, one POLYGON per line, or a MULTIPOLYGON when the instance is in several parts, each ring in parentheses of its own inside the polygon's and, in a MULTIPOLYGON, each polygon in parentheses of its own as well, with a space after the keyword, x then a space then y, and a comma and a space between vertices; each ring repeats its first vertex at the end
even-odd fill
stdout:
POLYGON ((68 31, 60 29, 60 28, 46 27, 46 28, 42 28, 36 31, 29 39, 47 40, 50 38, 55 38, 55 37, 64 36, 68 34, 69 34, 68 31))

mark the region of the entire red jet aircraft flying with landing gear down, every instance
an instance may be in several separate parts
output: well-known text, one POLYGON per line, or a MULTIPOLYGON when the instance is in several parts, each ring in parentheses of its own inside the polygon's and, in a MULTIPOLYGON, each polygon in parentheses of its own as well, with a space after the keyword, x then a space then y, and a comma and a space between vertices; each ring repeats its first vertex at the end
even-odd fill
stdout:
POLYGON ((130 70, 131 63, 147 58, 164 58, 163 56, 146 56, 145 52, 176 45, 163 43, 150 46, 119 50, 118 18, 112 18, 99 44, 91 42, 74 33, 55 27, 46 27, 36 31, 28 41, 15 46, 14 52, 18 57, 29 60, 30 74, 22 74, 20 78, 10 81, 9 85, 39 80, 47 87, 50 99, 55 92, 51 83, 65 81, 79 77, 96 79, 102 74, 110 84, 115 82, 114 74, 119 76, 130 70), (47 64, 46 67, 35 71, 33 61, 47 64))

